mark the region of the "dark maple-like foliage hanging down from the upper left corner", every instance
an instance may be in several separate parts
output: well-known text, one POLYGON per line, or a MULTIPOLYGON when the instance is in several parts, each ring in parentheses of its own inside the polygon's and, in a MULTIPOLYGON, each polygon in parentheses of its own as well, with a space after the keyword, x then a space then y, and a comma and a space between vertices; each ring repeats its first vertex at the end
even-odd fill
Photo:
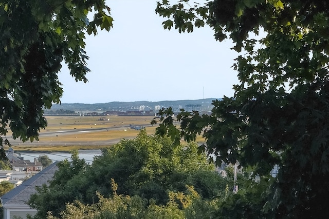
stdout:
POLYGON ((10 145, 7 128, 14 139, 38 139, 47 125, 43 108, 60 103, 62 62, 76 81, 87 81, 85 34, 108 31, 109 10, 104 0, 0 1, 0 146, 10 145))

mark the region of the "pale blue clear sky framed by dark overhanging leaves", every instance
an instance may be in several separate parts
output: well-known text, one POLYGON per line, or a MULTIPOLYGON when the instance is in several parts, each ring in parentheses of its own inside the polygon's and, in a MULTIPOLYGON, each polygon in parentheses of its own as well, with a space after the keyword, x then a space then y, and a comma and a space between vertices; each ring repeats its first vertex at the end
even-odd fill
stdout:
MULTIPOLYGON (((174 2, 174 1, 172 1, 174 2)), ((200 1, 202 2, 202 1, 200 1)), ((164 30, 156 0, 107 0, 113 28, 86 34, 88 82, 75 82, 63 65, 61 103, 176 101, 233 96, 237 53, 217 42, 210 27, 192 33, 164 30)))

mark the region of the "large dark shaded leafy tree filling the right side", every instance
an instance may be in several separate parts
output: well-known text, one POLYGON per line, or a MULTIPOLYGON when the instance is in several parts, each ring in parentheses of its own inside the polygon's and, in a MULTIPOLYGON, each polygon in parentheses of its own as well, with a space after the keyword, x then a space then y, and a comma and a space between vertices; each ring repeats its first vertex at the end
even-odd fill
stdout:
POLYGON ((171 5, 163 0, 156 12, 168 18, 165 29, 191 32, 209 25, 216 40, 229 38, 240 52, 233 66, 240 79, 233 97, 214 101, 210 115, 182 110, 179 130, 172 110, 162 109, 157 133, 175 143, 203 134, 206 145, 199 149, 215 154, 218 164, 239 161, 252 168, 261 178, 259 186, 267 183, 265 190, 257 187, 266 195, 258 206, 240 205, 235 198, 236 206, 249 206, 259 217, 329 217, 329 4, 182 0, 171 5), (268 180, 276 165, 278 175, 268 180))

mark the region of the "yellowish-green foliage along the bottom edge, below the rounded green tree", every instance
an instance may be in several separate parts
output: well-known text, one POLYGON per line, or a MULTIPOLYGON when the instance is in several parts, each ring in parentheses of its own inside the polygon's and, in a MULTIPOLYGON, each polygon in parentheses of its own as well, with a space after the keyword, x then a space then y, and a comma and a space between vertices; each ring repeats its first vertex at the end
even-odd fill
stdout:
POLYGON ((157 219, 157 218, 209 218, 209 211, 213 204, 201 200, 200 196, 189 187, 188 194, 180 192, 170 192, 169 201, 166 205, 156 205, 155 202, 148 203, 147 200, 139 197, 138 195, 118 195, 116 190, 118 185, 111 180, 113 196, 105 198, 97 192, 99 202, 96 204, 86 205, 80 201, 74 203, 67 203, 64 211, 61 212, 60 217, 53 216, 48 213, 48 219, 57 218, 144 218, 144 219, 157 219), (178 201, 178 202, 177 202, 178 201), (203 203, 202 211, 196 206, 203 203), (179 204, 183 208, 179 208, 179 204))

